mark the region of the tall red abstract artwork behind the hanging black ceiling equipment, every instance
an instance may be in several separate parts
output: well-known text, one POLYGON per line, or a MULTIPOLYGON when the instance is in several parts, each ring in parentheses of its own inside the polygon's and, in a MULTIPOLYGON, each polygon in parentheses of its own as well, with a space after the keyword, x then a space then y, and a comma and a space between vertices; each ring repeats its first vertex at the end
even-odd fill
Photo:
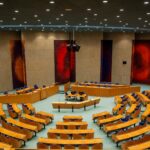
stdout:
POLYGON ((75 52, 67 50, 67 40, 55 40, 55 82, 75 81, 75 52))

